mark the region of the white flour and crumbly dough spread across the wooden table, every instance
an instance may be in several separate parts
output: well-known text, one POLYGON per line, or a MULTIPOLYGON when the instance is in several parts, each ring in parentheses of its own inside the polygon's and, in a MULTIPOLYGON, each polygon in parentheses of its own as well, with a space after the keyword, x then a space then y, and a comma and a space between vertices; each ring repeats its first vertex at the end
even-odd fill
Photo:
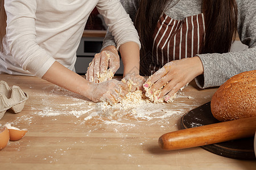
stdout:
MULTIPOLYGON (((83 96, 55 85, 48 86, 42 91, 34 94, 40 103, 38 107, 28 101, 26 105, 31 114, 20 115, 16 118, 16 123, 26 121, 29 125, 36 117, 52 117, 52 121, 57 121, 62 116, 74 116, 76 119, 72 118, 72 122, 75 124, 86 124, 87 121, 127 127, 134 127, 136 122, 147 122, 147 125, 168 124, 172 116, 184 114, 183 108, 188 107, 183 102, 188 100, 188 96, 182 95, 181 92, 177 94, 177 100, 171 104, 152 103, 141 90, 136 90, 129 92, 120 103, 109 105, 106 102, 93 103, 83 96), (60 99, 64 100, 60 103, 60 99)), ((192 104, 189 107, 194 106, 192 104)))

